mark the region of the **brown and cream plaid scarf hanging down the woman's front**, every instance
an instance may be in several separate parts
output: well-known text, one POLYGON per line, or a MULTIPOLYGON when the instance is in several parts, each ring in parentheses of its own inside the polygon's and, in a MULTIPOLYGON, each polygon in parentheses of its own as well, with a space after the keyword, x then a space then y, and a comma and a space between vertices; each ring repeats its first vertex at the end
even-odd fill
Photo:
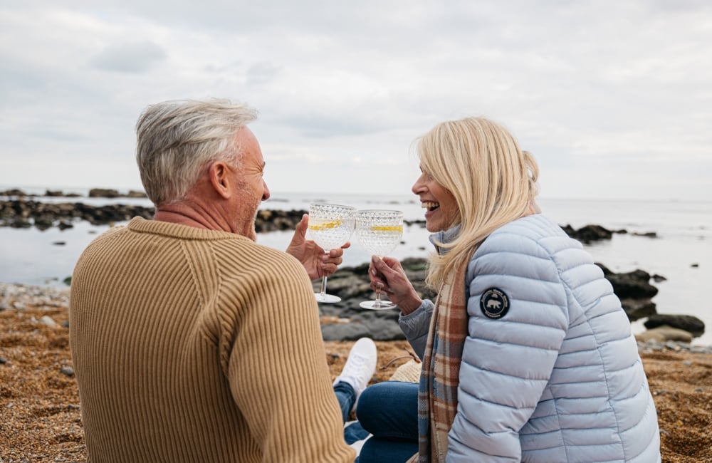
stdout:
POLYGON ((418 454, 409 462, 441 463, 457 413, 462 348, 467 336, 467 262, 442 284, 430 322, 418 392, 418 454))

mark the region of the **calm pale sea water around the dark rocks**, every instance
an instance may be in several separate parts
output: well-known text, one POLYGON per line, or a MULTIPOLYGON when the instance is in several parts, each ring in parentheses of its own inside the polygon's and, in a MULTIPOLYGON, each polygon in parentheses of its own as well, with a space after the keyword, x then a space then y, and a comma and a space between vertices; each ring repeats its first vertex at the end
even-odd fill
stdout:
MULTIPOLYGON (((42 194, 44 189, 25 189, 30 194, 42 194)), ((63 191, 86 194, 82 189, 63 191)), ((1 198, 0 199, 6 199, 1 198)), ((47 202, 85 202, 88 204, 140 204, 150 207, 146 199, 35 198, 47 202)), ((423 218, 417 198, 370 194, 305 194, 272 193, 262 209, 308 209, 313 201, 348 204, 357 209, 399 209, 405 219, 423 218)), ((614 234, 609 241, 586 245, 595 261, 612 271, 642 269, 664 276, 665 281, 653 283, 659 293, 653 298, 659 313, 689 314, 701 318, 707 332, 694 343, 712 345, 712 304, 704 290, 712 283, 712 203, 661 201, 601 201, 585 199, 539 200, 543 212, 558 224, 580 228, 598 224, 607 229, 626 229, 628 234, 614 234), (636 236, 654 231, 655 238, 636 236)), ((94 227, 87 222, 75 222, 72 229, 57 228, 11 229, 0 227, 0 281, 34 285, 61 286, 72 272, 84 247, 108 226, 94 227)), ((393 256, 427 256, 431 247, 428 232, 419 225, 406 227, 403 243, 393 256)), ((285 249, 291 232, 260 234, 258 242, 285 249)), ((345 266, 367 262, 369 254, 355 237, 345 252, 345 266)), ((364 277, 366 278, 366 277, 364 277)), ((644 330, 642 321, 633 324, 634 332, 644 330)))

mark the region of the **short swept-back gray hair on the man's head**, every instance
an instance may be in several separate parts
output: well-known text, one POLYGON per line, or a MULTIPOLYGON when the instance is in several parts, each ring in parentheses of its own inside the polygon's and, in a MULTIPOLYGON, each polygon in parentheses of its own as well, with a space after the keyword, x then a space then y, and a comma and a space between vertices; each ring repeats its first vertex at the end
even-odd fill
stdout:
POLYGON ((210 162, 241 162, 240 128, 257 112, 230 100, 169 100, 149 105, 136 123, 136 162, 156 207, 183 199, 210 162))

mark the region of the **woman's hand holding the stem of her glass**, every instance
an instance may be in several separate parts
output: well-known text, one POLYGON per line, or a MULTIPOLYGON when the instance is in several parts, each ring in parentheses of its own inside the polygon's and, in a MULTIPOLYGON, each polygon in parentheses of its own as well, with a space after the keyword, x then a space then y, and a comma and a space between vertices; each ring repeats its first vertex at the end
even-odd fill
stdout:
POLYGON ((420 307, 423 300, 418 296, 398 259, 372 256, 368 266, 368 276, 374 291, 384 291, 403 315, 420 307))

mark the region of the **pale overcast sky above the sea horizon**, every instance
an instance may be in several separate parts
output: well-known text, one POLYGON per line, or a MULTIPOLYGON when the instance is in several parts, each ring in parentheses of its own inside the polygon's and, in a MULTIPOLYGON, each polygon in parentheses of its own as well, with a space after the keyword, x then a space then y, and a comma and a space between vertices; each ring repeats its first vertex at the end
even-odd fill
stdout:
POLYGON ((146 105, 230 98, 273 192, 407 194, 483 115, 543 197, 712 200, 708 0, 3 0, 0 185, 142 189, 146 105))

